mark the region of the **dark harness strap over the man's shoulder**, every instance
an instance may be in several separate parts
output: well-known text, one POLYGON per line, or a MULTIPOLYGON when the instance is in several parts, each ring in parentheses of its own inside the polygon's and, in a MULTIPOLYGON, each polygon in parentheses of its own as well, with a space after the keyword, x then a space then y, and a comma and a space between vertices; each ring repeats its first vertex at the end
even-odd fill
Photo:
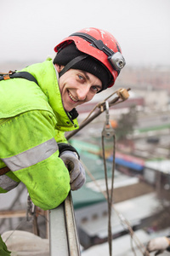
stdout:
POLYGON ((38 84, 37 79, 35 79, 29 72, 16 73, 15 71, 9 71, 8 73, 0 73, 0 81, 8 79, 27 79, 38 84))

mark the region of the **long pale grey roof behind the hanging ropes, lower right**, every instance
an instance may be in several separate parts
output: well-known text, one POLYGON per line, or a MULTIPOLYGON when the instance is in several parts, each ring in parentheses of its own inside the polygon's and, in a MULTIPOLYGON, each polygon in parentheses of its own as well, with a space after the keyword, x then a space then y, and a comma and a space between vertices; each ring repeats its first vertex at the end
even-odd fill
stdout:
MULTIPOLYGON (((121 212, 122 216, 128 219, 131 226, 139 224, 142 219, 152 216, 153 212, 157 211, 157 207, 160 207, 160 203, 156 199, 156 193, 142 195, 115 204, 116 211, 121 212)), ((95 220, 90 219, 88 222, 80 224, 80 228, 84 230, 88 236, 105 238, 107 237, 107 223, 108 217, 103 216, 102 218, 96 218, 95 220)), ((120 223, 120 219, 114 210, 111 215, 111 226, 113 234, 117 234, 124 230, 124 227, 120 223)))

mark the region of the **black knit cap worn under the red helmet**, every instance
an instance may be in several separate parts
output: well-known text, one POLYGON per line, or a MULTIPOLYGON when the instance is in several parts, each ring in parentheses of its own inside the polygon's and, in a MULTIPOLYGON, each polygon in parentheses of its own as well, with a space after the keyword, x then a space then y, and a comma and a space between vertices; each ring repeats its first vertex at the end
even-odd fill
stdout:
MULTIPOLYGON (((77 58, 78 56, 87 56, 87 58, 77 61, 70 68, 80 69, 88 73, 94 74, 102 82, 102 90, 107 89, 110 81, 111 74, 106 67, 94 57, 86 55, 77 49, 74 43, 68 44, 65 48, 60 49, 54 58, 54 64, 66 66, 70 61, 77 58)), ((101 91, 101 90, 100 90, 101 91)))

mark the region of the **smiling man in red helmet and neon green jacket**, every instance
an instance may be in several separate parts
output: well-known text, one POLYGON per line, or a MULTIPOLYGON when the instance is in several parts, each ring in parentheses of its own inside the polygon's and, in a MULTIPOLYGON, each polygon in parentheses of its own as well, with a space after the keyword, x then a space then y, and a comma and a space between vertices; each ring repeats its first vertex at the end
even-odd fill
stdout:
POLYGON ((78 128, 76 107, 111 87, 125 65, 116 39, 96 28, 71 34, 54 50, 54 61, 0 82, 0 193, 21 181, 44 210, 85 182, 77 150, 65 140, 65 131, 78 128))

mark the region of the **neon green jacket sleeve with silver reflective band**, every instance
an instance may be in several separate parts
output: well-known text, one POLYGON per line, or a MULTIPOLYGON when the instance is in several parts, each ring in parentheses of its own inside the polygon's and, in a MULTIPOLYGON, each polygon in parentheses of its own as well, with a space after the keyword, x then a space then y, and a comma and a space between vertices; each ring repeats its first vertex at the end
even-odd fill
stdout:
POLYGON ((70 176, 59 158, 56 119, 48 111, 28 111, 0 126, 0 158, 26 184, 31 200, 44 210, 58 207, 70 191, 70 176))

